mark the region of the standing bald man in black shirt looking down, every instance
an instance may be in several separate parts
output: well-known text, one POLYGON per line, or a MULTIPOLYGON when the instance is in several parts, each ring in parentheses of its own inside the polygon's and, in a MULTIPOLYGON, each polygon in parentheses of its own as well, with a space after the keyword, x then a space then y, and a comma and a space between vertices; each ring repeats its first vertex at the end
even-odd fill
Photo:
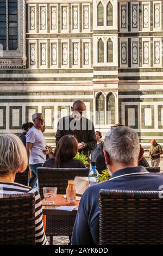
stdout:
POLYGON ((89 156, 89 151, 96 148, 97 141, 95 135, 95 128, 93 123, 82 116, 85 111, 85 104, 82 100, 77 100, 71 107, 72 115, 61 118, 58 123, 58 130, 56 133, 56 145, 59 139, 64 135, 74 135, 79 142, 79 152, 89 156))

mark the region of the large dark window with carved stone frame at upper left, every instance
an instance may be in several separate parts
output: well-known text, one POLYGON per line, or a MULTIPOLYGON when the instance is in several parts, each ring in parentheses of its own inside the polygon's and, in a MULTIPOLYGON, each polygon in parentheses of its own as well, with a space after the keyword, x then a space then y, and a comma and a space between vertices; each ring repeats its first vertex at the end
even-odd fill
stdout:
POLYGON ((26 0, 1 0, 0 68, 25 68, 26 59, 26 0))

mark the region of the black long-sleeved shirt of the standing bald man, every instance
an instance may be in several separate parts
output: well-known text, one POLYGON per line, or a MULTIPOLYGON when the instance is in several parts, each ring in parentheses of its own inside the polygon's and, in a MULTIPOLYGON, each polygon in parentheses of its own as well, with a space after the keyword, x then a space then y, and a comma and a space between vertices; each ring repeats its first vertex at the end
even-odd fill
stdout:
POLYGON ((84 154, 89 156, 89 151, 97 146, 95 128, 91 120, 82 117, 79 121, 75 120, 72 115, 67 115, 59 120, 58 130, 56 133, 56 145, 59 139, 64 135, 74 135, 78 142, 84 142, 85 148, 80 149, 84 154))

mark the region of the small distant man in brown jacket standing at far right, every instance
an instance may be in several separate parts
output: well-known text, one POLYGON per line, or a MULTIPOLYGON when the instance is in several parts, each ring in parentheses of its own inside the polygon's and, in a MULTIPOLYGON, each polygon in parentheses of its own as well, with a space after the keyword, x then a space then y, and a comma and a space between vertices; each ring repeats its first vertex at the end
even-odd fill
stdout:
POLYGON ((151 156, 152 167, 158 167, 160 163, 160 155, 163 153, 161 145, 156 143, 155 139, 151 139, 151 147, 149 149, 149 156, 151 156))

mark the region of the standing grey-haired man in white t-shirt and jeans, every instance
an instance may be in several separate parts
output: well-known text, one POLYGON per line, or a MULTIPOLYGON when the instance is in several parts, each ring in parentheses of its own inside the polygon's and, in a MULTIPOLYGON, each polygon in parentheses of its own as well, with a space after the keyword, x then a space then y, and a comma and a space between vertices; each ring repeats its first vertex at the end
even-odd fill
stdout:
POLYGON ((49 150, 46 149, 45 138, 41 131, 44 125, 42 113, 32 115, 34 126, 27 132, 26 135, 26 150, 28 155, 28 163, 32 172, 32 177, 29 178, 29 186, 37 186, 37 167, 42 167, 46 160, 46 155, 49 150))

